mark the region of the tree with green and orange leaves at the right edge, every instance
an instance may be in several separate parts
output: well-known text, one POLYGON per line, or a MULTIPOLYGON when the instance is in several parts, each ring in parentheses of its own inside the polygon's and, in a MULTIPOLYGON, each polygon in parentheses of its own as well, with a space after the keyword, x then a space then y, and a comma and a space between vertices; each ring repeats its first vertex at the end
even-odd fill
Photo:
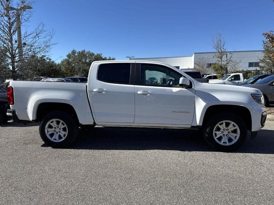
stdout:
POLYGON ((263 44, 263 58, 259 59, 259 68, 260 69, 274 69, 274 33, 269 31, 262 34, 265 37, 265 40, 262 41, 263 44))

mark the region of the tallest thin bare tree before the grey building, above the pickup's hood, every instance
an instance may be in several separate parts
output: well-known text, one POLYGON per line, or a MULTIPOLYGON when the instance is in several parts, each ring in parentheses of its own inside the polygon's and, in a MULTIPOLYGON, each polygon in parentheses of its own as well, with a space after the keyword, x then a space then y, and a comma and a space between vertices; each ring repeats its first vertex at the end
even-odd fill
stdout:
POLYGON ((216 58, 216 63, 221 65, 224 72, 227 73, 228 65, 230 64, 232 55, 228 56, 225 48, 225 39, 221 32, 217 32, 215 37, 212 37, 212 46, 216 50, 214 58, 216 58))

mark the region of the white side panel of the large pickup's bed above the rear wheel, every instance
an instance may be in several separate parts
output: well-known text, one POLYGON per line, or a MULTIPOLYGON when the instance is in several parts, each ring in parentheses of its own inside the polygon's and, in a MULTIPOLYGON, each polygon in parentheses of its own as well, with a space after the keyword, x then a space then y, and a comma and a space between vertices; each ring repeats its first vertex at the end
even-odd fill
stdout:
POLYGON ((11 81, 10 85, 14 87, 16 114, 21 120, 34 120, 37 104, 66 102, 75 109, 81 124, 93 123, 86 83, 11 81))

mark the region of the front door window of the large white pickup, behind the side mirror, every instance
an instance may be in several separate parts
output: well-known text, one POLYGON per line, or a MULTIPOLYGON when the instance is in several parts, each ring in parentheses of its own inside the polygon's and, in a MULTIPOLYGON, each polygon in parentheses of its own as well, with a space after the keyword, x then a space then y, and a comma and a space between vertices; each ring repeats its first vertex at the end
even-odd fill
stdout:
POLYGON ((182 74, 172 69, 154 64, 141 64, 141 84, 153 86, 179 87, 182 74))

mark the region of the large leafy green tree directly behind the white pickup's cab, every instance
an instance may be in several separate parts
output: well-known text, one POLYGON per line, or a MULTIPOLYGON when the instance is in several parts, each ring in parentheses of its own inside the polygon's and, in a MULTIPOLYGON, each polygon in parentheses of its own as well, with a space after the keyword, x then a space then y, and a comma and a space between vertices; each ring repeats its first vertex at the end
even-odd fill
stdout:
POLYGON ((93 61, 115 60, 112 57, 103 57, 102 53, 93 53, 91 51, 72 50, 67 57, 60 63, 65 76, 70 77, 87 77, 89 68, 93 61))

